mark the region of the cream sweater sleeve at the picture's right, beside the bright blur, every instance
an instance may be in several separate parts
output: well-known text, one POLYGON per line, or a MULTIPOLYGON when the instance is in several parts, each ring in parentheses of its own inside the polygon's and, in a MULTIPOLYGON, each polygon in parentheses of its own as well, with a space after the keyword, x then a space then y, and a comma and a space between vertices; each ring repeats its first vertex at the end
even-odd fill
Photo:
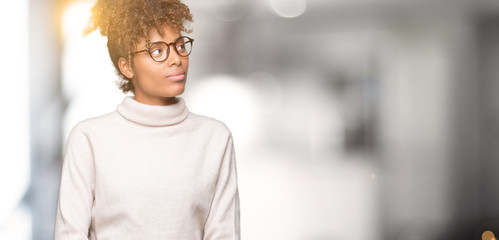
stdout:
POLYGON ((239 240, 239 193, 232 137, 220 166, 215 196, 205 225, 204 240, 239 240))

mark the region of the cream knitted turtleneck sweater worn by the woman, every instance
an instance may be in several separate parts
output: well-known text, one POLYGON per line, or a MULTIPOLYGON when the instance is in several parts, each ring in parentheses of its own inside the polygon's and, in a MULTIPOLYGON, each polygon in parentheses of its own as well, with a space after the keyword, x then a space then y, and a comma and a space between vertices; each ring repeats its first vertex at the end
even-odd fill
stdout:
POLYGON ((240 239, 231 133, 177 99, 151 106, 125 97, 74 127, 56 240, 240 239))

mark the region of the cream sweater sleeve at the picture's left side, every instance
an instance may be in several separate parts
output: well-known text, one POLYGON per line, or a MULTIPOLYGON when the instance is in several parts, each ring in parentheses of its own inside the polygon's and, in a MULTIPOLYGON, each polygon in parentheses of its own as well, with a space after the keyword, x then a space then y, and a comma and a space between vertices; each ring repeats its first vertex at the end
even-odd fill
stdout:
POLYGON ((88 137, 77 128, 69 136, 62 166, 55 240, 87 240, 94 201, 95 171, 88 137))

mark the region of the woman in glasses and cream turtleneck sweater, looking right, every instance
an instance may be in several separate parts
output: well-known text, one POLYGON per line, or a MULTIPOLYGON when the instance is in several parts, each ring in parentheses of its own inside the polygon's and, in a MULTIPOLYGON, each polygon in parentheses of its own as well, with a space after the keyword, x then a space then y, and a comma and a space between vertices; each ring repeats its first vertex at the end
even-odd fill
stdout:
POLYGON ((55 239, 239 239, 231 133, 188 111, 192 22, 178 0, 98 0, 87 32, 108 39, 132 92, 78 123, 65 151, 55 239))

